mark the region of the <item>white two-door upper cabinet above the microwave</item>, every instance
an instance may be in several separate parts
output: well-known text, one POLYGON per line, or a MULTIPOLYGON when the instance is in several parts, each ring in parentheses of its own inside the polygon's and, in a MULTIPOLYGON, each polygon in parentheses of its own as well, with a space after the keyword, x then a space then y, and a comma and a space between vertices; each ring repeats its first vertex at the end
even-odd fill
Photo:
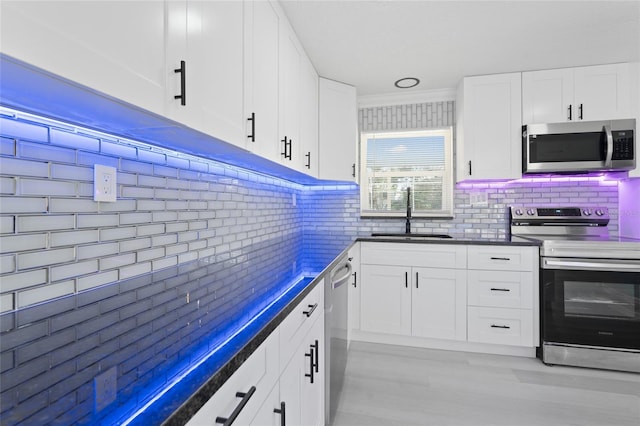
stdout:
POLYGON ((624 63, 523 72, 523 124, 632 117, 631 69, 624 63))

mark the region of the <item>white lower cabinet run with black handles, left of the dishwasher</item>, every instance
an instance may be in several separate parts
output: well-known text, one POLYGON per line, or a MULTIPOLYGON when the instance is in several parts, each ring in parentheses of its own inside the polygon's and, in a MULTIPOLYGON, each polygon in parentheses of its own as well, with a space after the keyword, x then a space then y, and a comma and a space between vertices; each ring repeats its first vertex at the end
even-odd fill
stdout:
POLYGON ((188 426, 324 425, 322 283, 189 420, 188 426), (293 346, 293 347, 292 347, 293 346))

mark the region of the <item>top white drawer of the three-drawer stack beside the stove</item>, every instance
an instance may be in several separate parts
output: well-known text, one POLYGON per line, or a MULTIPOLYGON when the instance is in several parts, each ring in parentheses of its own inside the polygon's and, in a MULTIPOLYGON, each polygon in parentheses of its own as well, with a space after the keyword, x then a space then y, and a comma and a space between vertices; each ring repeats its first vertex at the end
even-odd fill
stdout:
POLYGON ((469 269, 532 271, 537 247, 469 246, 469 269))

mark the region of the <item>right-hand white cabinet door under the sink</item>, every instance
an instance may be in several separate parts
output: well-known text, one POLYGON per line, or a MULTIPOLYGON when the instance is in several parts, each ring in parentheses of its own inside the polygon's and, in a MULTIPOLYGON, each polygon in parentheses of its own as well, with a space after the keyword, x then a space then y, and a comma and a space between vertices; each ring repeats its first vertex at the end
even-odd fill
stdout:
POLYGON ((413 268, 412 281, 411 334, 466 340, 466 271, 413 268))

